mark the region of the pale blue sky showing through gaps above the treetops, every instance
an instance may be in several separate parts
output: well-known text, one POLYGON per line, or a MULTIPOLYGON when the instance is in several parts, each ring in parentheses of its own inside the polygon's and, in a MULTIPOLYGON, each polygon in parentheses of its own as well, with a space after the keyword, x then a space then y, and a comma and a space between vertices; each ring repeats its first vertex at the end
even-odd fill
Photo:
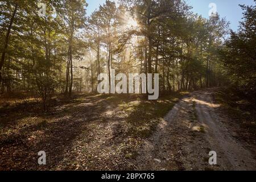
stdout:
MULTIPOLYGON (((118 0, 115 0, 118 1, 118 0)), ((220 14, 221 17, 226 17, 226 19, 230 22, 230 27, 232 30, 236 31, 239 26, 239 21, 243 17, 242 10, 238 6, 240 4, 245 5, 254 5, 253 0, 186 0, 187 3, 193 6, 192 11, 202 15, 205 18, 208 18, 209 15, 209 4, 215 3, 217 6, 217 13, 220 14)), ((87 13, 91 14, 94 10, 98 8, 98 6, 103 4, 105 0, 87 0, 88 3, 87 13)))

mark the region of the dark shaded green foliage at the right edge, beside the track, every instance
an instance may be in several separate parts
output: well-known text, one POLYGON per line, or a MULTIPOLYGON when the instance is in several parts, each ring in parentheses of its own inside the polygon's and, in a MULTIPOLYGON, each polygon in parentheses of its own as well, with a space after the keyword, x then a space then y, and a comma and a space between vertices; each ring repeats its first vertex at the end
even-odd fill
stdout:
POLYGON ((243 22, 238 32, 231 32, 221 50, 230 81, 247 97, 255 101, 256 94, 256 6, 241 6, 243 22))

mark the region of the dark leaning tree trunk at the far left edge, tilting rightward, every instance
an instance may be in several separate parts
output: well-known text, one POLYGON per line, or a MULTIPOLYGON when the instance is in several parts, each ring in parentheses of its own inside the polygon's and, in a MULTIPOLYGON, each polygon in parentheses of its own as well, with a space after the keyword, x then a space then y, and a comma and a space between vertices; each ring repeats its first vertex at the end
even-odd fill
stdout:
POLYGON ((2 52, 1 62, 0 62, 0 83, 2 82, 2 68, 3 68, 3 64, 5 63, 5 55, 6 55, 8 45, 9 45, 11 27, 13 26, 13 22, 14 22, 14 18, 15 18, 17 9, 18 9, 18 3, 15 4, 15 8, 14 8, 13 14, 11 15, 11 20, 9 23, 6 37, 5 37, 5 46, 3 47, 3 52, 2 52))

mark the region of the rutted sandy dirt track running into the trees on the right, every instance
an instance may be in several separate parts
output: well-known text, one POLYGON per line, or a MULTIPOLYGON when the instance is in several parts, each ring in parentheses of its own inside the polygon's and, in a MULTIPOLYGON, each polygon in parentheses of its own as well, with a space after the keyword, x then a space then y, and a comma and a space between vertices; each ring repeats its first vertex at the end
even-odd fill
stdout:
POLYGON ((239 126, 214 104, 216 91, 193 92, 177 103, 144 144, 138 169, 255 170, 255 148, 236 138, 239 126), (217 152, 216 166, 209 165, 210 151, 217 152))

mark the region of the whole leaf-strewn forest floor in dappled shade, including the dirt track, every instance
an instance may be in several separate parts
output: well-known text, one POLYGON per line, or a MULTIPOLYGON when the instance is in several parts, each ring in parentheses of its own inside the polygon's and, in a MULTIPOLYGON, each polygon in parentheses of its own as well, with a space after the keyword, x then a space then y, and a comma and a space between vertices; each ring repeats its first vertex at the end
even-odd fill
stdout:
POLYGON ((48 113, 34 98, 2 100, 0 170, 256 169, 255 135, 229 117, 221 98, 218 88, 157 101, 80 94, 56 98, 48 113), (216 166, 209 151, 217 152, 216 166))

